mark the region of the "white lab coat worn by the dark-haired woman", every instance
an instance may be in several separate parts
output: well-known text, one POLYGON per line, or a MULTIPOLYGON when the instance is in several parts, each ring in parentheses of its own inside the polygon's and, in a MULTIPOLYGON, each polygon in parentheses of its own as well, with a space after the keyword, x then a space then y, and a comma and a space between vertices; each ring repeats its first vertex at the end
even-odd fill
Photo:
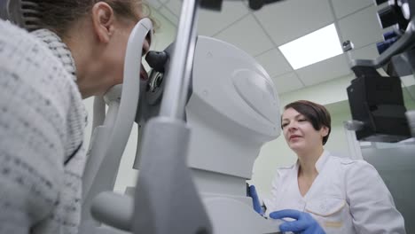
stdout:
POLYGON ((385 183, 364 160, 350 160, 323 152, 318 175, 301 196, 298 162, 278 169, 272 197, 265 199, 266 215, 281 209, 311 214, 327 233, 405 233, 403 216, 396 210, 385 183))

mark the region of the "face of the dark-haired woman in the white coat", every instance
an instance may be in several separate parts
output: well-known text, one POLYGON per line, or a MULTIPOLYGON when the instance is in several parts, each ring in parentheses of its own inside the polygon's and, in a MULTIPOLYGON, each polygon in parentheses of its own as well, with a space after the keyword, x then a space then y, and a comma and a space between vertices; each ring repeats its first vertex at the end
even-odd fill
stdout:
POLYGON ((284 111, 281 127, 286 143, 294 152, 306 152, 322 147, 323 136, 327 135, 326 127, 314 129, 311 122, 294 108, 284 111))

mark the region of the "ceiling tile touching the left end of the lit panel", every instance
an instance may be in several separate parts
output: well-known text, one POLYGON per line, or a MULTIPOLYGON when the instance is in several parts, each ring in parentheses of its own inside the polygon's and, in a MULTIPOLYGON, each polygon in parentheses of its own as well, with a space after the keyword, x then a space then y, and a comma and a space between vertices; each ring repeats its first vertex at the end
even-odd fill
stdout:
POLYGON ((286 58, 284 58, 278 49, 267 51, 255 57, 255 59, 265 68, 268 74, 270 74, 270 77, 293 71, 293 68, 288 64, 286 58))

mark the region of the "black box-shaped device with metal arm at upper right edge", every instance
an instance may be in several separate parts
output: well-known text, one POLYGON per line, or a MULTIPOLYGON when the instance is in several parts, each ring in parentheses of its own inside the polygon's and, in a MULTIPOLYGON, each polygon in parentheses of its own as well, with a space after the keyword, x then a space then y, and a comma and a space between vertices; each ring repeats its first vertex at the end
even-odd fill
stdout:
MULTIPOLYGON (((415 136, 415 111, 403 105, 399 76, 414 74, 415 3, 407 0, 375 1, 380 26, 393 27, 378 43, 380 57, 351 60, 356 79, 348 87, 348 101, 357 140, 399 142, 415 136), (384 68, 389 77, 377 71, 384 68)), ((345 51, 351 49, 348 47, 345 51)))

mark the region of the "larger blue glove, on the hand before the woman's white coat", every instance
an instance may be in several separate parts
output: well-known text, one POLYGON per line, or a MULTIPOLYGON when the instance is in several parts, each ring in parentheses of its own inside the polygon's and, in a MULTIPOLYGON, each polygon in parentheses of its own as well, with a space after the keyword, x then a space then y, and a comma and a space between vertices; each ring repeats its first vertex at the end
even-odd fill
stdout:
POLYGON ((273 219, 293 218, 296 221, 284 222, 279 225, 281 231, 293 231, 301 234, 325 234, 318 222, 308 213, 294 209, 275 211, 270 214, 273 219))

